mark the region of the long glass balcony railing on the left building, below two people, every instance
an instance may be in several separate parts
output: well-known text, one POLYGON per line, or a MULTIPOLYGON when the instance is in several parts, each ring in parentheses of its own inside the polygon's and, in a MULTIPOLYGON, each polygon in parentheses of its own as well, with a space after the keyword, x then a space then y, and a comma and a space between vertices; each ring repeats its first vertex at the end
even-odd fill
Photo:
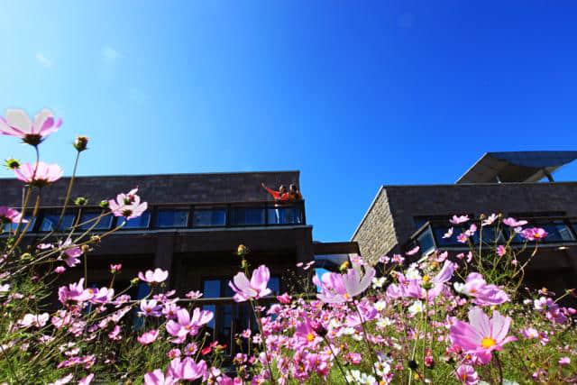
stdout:
MULTIPOLYGON (((30 213, 32 209, 28 209, 30 213)), ((61 207, 42 207, 39 215, 32 221, 30 233, 46 233, 53 230, 66 231, 73 225, 79 225, 78 231, 85 231, 103 210, 98 206, 69 207, 58 224, 61 207), (86 223, 86 225, 81 225, 86 223)), ((102 217, 93 231, 106 231, 121 225, 124 217, 106 215, 102 217)), ((210 229, 250 226, 287 226, 307 225, 305 202, 276 203, 270 201, 211 203, 211 204, 163 204, 149 205, 149 208, 138 218, 129 220, 123 230, 163 230, 163 229, 210 229)), ((5 225, 5 230, 16 225, 5 225)))

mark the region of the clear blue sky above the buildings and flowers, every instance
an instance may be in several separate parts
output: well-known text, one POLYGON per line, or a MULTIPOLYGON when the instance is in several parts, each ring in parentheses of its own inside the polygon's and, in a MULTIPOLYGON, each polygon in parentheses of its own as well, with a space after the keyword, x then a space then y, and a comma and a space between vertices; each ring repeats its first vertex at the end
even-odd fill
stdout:
MULTIPOLYGON (((68 172, 88 135, 81 175, 301 170, 315 238, 348 240, 381 184, 453 183, 485 151, 576 150, 576 14, 572 1, 5 2, 0 110, 61 116, 42 158, 68 172)), ((0 156, 32 160, 15 143, 0 138, 0 156)))

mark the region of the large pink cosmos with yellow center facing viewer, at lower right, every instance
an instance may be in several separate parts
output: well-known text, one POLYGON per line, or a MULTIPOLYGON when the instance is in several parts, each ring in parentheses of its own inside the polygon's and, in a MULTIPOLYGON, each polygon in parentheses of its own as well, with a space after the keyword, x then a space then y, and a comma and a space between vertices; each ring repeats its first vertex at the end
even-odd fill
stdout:
POLYGON ((481 307, 473 307, 468 324, 456 321, 451 326, 451 340, 461 346, 464 353, 474 354, 483 364, 489 363, 493 351, 502 350, 504 344, 517 340, 507 335, 509 325, 511 318, 501 316, 499 311, 495 310, 489 318, 481 307))

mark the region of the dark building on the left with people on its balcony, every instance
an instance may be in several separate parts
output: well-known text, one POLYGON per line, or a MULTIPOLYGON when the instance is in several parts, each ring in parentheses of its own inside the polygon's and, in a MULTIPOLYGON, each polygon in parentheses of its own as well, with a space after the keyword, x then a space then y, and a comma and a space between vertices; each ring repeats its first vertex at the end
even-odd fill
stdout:
MULTIPOLYGON (((249 309, 234 304, 228 281, 241 270, 236 255, 239 244, 251 250, 252 267, 270 268, 270 289, 275 294, 291 289, 309 272, 298 269, 298 262, 318 260, 319 266, 331 269, 357 253, 356 243, 314 243, 312 225, 307 224, 305 201, 277 205, 262 187, 281 184, 299 185, 298 171, 243 172, 210 174, 132 175, 79 177, 74 197, 87 197, 88 206, 72 205, 64 216, 60 231, 82 224, 102 213, 97 205, 102 199, 116 197, 138 187, 138 194, 148 202, 148 210, 127 222, 88 253, 88 285, 107 286, 111 263, 122 263, 114 288, 130 287, 139 271, 153 268, 169 270, 168 287, 184 298, 189 290, 204 294, 199 302, 215 311, 211 323, 220 342, 233 345, 234 334, 248 327, 249 309)), ((42 189, 41 210, 27 234, 26 241, 39 243, 57 225, 69 179, 60 179, 42 189)), ((22 205, 22 182, 4 179, 0 184, 3 204, 22 205)), ((28 213, 32 208, 27 210, 28 213)), ((103 234, 120 224, 122 218, 106 216, 93 229, 103 234)), ((81 225, 75 236, 86 230, 81 225)), ((63 233, 60 233, 63 234, 63 233)), ((61 236, 60 236, 61 238, 61 236)), ((42 241, 43 242, 43 241, 42 241)), ((60 284, 78 281, 84 276, 82 266, 67 271, 60 284)), ((148 293, 140 284, 129 292, 133 298, 148 293)), ((56 298, 53 298, 56 302, 56 298)))

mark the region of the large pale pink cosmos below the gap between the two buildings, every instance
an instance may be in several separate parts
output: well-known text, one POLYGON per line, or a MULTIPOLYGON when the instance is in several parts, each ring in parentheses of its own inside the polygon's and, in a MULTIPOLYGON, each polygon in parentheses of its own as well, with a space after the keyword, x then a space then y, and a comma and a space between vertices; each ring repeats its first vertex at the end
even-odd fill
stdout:
POLYGON ((358 296, 371 286, 376 271, 371 266, 365 266, 364 273, 361 267, 349 269, 345 274, 325 272, 321 277, 313 278, 316 286, 321 288, 321 293, 316 297, 325 303, 343 303, 358 296))

